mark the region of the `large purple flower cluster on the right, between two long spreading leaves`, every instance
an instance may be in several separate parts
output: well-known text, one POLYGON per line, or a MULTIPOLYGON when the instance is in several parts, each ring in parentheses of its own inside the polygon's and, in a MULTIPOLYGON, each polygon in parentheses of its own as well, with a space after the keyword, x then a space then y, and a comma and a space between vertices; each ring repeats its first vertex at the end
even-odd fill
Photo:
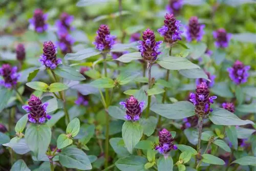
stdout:
POLYGON ((217 96, 209 97, 209 88, 206 82, 201 82, 196 89, 196 94, 190 93, 190 101, 195 105, 195 112, 199 117, 207 117, 212 112, 210 104, 214 103, 217 96))

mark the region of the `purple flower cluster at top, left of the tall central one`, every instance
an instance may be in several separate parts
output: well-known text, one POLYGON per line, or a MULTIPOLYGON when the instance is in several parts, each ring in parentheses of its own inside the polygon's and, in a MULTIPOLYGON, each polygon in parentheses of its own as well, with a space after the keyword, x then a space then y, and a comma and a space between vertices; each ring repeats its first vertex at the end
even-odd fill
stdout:
POLYGON ((112 46, 115 44, 115 38, 115 36, 110 35, 108 25, 100 25, 93 44, 99 51, 110 51, 112 46))

